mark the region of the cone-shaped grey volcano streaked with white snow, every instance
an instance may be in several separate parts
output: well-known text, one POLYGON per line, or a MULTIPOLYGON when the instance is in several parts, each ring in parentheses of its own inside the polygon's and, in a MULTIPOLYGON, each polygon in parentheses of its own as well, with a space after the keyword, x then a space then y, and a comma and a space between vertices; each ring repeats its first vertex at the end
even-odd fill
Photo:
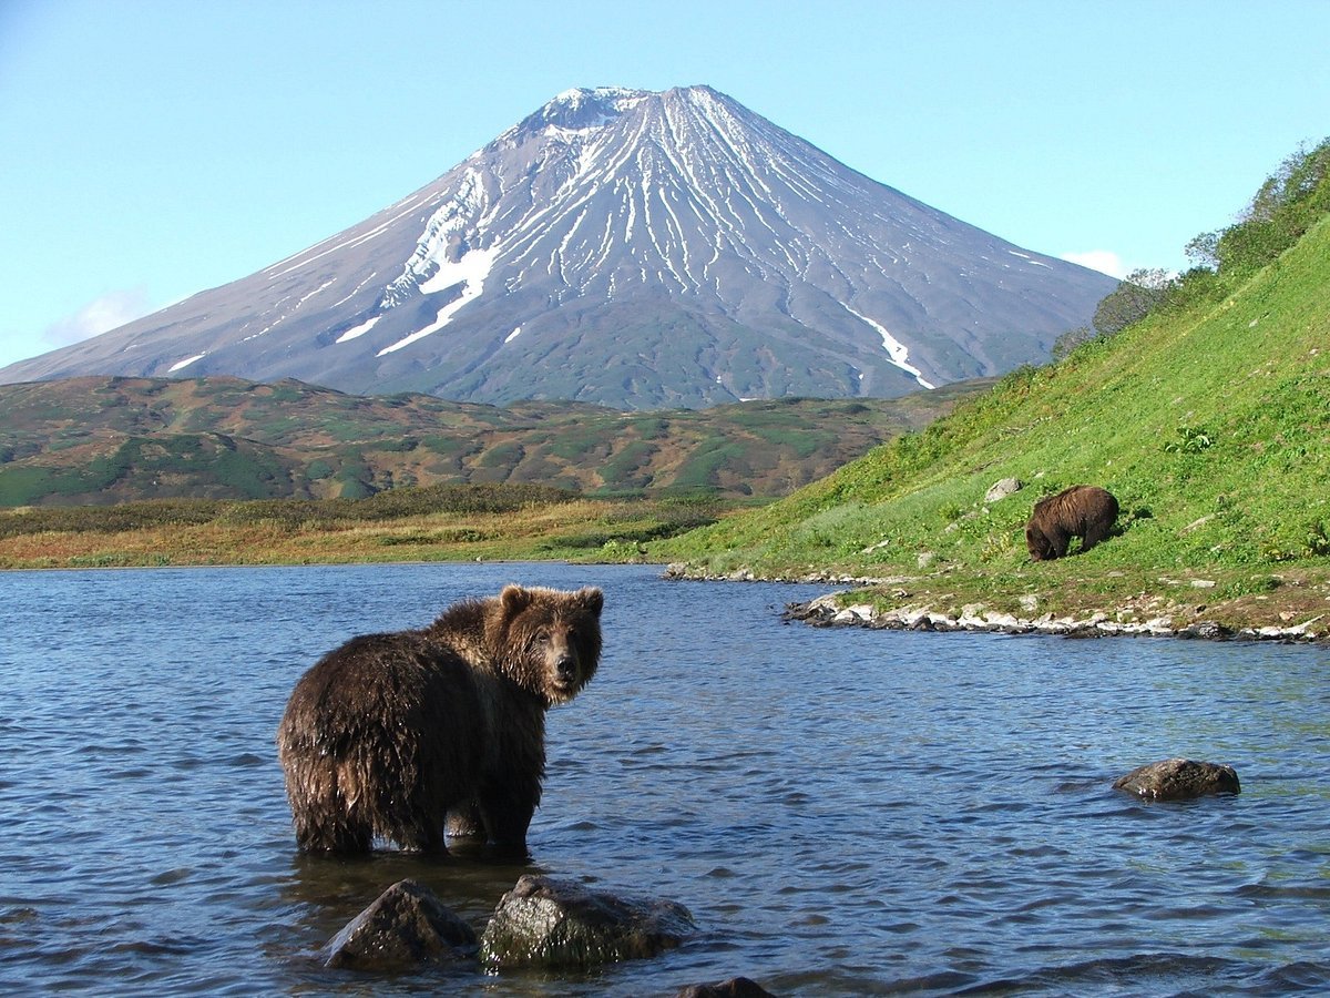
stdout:
POLYGON ((1047 359, 1116 282, 708 86, 575 89, 367 221, 0 371, 625 409, 899 395, 1047 359))

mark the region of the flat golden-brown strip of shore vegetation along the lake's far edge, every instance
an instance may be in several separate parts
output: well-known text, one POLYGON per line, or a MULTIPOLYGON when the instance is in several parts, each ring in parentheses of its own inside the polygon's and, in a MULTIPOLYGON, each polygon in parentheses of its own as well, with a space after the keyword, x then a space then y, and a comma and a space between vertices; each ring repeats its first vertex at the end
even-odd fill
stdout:
POLYGON ((595 499, 529 484, 394 488, 366 499, 160 499, 0 511, 0 567, 642 560, 712 523, 709 495, 595 499))

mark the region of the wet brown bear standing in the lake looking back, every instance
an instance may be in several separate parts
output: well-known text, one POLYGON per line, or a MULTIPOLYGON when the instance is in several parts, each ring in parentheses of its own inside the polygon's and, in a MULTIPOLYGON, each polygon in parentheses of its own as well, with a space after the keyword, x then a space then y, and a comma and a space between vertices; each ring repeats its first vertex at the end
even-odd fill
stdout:
POLYGON ((600 589, 508 585, 422 631, 352 637, 306 672, 277 733, 295 838, 444 852, 450 808, 525 854, 545 773, 545 711, 600 663, 600 589))

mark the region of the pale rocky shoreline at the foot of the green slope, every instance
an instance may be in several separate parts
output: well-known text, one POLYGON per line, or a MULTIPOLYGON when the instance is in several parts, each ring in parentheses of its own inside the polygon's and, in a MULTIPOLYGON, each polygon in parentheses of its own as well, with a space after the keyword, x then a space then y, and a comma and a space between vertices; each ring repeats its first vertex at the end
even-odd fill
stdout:
MULTIPOLYGON (((759 579, 750 571, 741 570, 729 575, 700 574, 684 564, 670 564, 664 576, 672 580, 694 582, 781 582, 811 583, 853 587, 892 585, 902 579, 858 579, 813 572, 795 579, 759 579)), ((1015 613, 990 611, 980 603, 967 604, 959 612, 943 612, 931 607, 878 608, 867 603, 842 605, 845 592, 818 596, 807 603, 790 603, 782 617, 813 627, 866 627, 882 631, 984 631, 1005 635, 1057 635, 1063 637, 1181 637, 1212 641, 1285 641, 1285 643, 1330 643, 1330 621, 1315 616, 1301 624, 1289 627, 1244 627, 1232 628, 1214 620, 1194 620, 1185 625, 1174 625, 1172 616, 1157 616, 1149 620, 1124 621, 1109 611, 1099 609, 1088 616, 1040 616, 1021 617, 1015 613), (1323 625, 1322 625, 1323 624, 1323 625), (1322 625, 1322 627, 1318 627, 1322 625)))

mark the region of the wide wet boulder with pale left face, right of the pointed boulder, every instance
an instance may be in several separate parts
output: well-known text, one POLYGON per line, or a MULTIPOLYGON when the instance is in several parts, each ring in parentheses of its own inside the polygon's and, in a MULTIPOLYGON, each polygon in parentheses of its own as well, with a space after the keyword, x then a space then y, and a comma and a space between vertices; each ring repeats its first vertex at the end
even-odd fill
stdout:
POLYGON ((489 967, 588 967, 654 957, 696 931, 673 901, 622 898, 572 881, 524 876, 499 901, 480 937, 489 967))

